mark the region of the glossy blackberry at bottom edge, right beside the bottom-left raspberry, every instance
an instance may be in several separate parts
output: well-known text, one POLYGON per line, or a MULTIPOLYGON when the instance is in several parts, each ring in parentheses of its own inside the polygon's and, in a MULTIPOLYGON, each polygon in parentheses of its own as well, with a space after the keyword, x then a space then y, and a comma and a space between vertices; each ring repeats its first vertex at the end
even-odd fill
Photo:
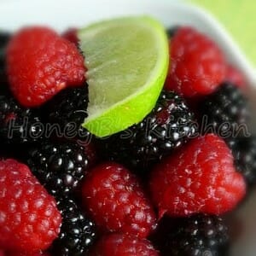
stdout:
POLYGON ((62 224, 59 237, 49 249, 51 255, 87 255, 96 240, 96 225, 71 198, 57 201, 57 207, 61 212, 62 224))

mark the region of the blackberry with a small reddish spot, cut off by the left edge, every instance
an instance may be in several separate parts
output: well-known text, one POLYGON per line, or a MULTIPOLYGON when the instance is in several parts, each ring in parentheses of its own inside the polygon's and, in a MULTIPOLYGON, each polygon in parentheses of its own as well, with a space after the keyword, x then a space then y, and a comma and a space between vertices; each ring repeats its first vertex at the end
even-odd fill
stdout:
POLYGON ((20 107, 9 92, 0 95, 0 137, 5 143, 37 142, 43 135, 42 125, 36 110, 20 107))

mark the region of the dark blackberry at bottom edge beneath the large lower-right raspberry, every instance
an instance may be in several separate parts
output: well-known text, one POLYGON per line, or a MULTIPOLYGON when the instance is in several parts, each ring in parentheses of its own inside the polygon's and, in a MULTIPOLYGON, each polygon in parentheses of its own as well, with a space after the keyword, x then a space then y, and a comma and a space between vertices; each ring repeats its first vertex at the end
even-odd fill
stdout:
POLYGON ((217 216, 195 215, 173 219, 166 236, 164 255, 224 256, 229 249, 228 229, 217 216))

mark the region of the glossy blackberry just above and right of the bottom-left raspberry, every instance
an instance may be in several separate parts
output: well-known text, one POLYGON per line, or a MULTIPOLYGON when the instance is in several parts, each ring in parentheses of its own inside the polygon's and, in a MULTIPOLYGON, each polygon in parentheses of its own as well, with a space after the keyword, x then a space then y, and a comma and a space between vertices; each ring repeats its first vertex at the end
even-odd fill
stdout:
POLYGON ((71 195, 88 171, 89 157, 77 143, 42 143, 29 152, 28 166, 51 195, 71 195))

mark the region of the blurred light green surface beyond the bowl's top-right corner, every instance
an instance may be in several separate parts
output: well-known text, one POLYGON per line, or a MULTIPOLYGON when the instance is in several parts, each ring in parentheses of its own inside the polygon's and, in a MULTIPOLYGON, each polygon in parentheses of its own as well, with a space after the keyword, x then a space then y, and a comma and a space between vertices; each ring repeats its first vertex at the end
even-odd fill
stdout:
POLYGON ((256 66, 256 0, 187 0, 198 3, 226 27, 256 66))

